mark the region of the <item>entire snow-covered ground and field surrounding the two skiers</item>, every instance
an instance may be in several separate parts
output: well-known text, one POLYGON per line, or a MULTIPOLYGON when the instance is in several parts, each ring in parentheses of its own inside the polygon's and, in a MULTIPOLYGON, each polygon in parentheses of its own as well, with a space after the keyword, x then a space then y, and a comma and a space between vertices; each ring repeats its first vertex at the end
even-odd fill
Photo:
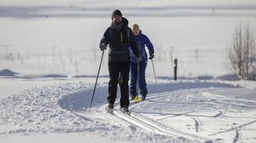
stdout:
POLYGON ((0 142, 256 142, 256 82, 226 69, 240 23, 256 30, 254 0, 2 0, 0 142), (105 111, 107 54, 88 108, 113 9, 155 46, 159 94, 149 61, 130 116, 105 111))

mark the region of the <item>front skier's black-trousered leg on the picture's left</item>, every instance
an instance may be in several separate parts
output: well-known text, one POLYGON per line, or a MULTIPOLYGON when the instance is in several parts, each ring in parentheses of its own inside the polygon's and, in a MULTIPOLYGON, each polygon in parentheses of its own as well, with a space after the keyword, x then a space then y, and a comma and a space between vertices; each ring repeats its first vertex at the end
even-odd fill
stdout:
POLYGON ((108 63, 108 103, 114 105, 116 100, 117 83, 119 78, 119 67, 116 63, 108 63))

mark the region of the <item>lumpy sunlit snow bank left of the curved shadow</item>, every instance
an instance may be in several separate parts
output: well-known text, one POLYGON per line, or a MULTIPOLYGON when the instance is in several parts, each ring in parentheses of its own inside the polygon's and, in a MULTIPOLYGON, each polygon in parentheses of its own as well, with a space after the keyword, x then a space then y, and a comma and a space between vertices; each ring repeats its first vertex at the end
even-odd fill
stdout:
MULTIPOLYGON (((74 113, 62 109, 58 101, 62 96, 90 88, 90 84, 83 83, 34 87, 1 99, 0 124, 7 127, 1 132, 30 134, 86 131, 84 127, 90 127, 93 121, 84 122, 74 113)), ((93 124, 97 127, 97 123, 93 124)))

